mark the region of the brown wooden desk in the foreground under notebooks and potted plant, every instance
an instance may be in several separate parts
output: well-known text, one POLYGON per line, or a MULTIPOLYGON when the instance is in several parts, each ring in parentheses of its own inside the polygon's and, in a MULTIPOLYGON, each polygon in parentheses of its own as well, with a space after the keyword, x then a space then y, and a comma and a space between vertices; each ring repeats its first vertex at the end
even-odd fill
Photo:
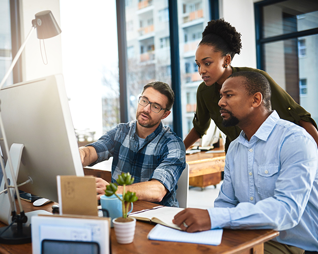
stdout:
MULTIPOLYGON (((43 209, 51 212, 53 203, 46 204, 42 207, 34 207, 32 203, 22 201, 25 212, 34 209, 43 209)), ((136 201, 133 211, 149 209, 156 206, 155 204, 136 201)), ((0 227, 5 226, 0 222, 0 227)), ((111 229, 111 249, 112 254, 127 254, 127 253, 263 253, 264 242, 278 236, 278 232, 274 230, 228 230, 224 229, 222 242, 218 246, 181 243, 181 242, 165 242, 148 240, 147 235, 154 227, 142 221, 137 221, 136 232, 133 243, 118 244, 115 239, 114 230, 111 229)), ((5 254, 29 254, 32 253, 32 243, 20 245, 0 244, 0 253, 5 254)))

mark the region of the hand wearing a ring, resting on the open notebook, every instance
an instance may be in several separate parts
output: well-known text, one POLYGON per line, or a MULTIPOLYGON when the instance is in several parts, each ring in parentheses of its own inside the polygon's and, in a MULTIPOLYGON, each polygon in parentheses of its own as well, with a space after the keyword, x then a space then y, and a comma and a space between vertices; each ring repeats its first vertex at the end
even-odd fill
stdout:
POLYGON ((204 209, 186 208, 172 219, 172 223, 189 233, 211 229, 209 212, 204 209))

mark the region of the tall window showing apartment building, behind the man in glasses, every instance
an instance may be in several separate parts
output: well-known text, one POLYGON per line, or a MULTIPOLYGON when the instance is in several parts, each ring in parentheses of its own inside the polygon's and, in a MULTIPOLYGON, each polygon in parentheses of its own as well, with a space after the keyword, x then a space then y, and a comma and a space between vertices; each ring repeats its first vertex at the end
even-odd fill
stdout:
MULTIPOLYGON (((117 0, 117 3, 122 7, 122 1, 117 0)), ((187 111, 186 92, 195 99, 197 86, 202 81, 197 68, 194 67, 194 53, 207 22, 211 18, 219 18, 219 1, 177 0, 169 1, 169 4, 171 9, 167 0, 139 0, 132 1, 129 9, 126 4, 125 13, 122 12, 122 8, 118 9, 118 15, 125 15, 126 20, 138 22, 126 36, 119 35, 121 40, 126 40, 129 47, 128 49, 124 48, 124 44, 120 45, 120 52, 130 51, 131 46, 135 48, 133 57, 124 59, 124 54, 121 58, 125 69, 123 70, 125 81, 121 84, 125 91, 121 93, 121 104, 123 104, 121 113, 123 113, 122 121, 135 119, 136 98, 142 87, 148 82, 162 80, 171 85, 176 94, 174 112, 163 120, 163 124, 171 126, 178 136, 185 138, 189 130, 188 122, 192 125, 196 107, 192 102, 189 105, 190 110, 187 111), (170 16, 174 18, 173 22, 170 16), (178 18, 177 22, 175 18, 178 18), (153 21, 149 25, 151 22, 149 23, 148 20, 151 19, 153 21), (170 41, 174 41, 173 46, 170 41), (176 48, 178 45, 176 41, 179 43, 179 49, 176 48), (191 58, 190 61, 185 60, 188 57, 191 58), (186 62, 189 62, 187 67, 189 73, 185 72, 186 62)))

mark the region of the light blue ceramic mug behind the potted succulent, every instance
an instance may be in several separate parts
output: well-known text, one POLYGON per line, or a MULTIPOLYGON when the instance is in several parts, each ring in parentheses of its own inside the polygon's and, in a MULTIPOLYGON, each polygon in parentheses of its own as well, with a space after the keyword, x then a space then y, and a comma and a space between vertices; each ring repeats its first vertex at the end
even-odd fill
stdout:
MULTIPOLYGON (((122 194, 117 194, 117 195, 120 198, 123 197, 122 194)), ((113 227, 112 219, 123 216, 122 202, 115 195, 111 195, 110 197, 103 195, 100 197, 100 204, 102 206, 102 209, 106 209, 108 211, 109 217, 111 218, 111 227, 113 227)), ((128 212, 128 214, 131 213, 132 208, 133 208, 133 204, 131 203, 131 209, 128 212)))

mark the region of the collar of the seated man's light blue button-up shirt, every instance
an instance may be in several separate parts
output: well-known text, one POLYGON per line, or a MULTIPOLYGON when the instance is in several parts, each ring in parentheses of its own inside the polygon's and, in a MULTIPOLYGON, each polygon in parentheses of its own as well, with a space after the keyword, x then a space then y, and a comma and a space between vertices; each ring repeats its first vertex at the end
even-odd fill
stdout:
MULTIPOLYGON (((262 123, 262 125, 259 126, 258 130, 253 136, 257 137, 258 139, 267 141, 268 137, 270 136, 279 119, 280 118, 276 110, 273 110, 272 113, 262 123)), ((243 131, 240 133, 240 139, 242 138, 246 140, 246 135, 243 131)))

